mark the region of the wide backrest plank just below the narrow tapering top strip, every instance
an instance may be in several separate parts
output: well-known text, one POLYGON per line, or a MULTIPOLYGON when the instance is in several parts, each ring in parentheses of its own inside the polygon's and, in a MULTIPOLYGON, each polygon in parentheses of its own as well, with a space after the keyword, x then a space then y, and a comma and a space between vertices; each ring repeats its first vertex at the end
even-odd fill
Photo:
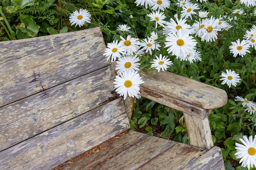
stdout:
POLYGON ((109 65, 101 32, 77 38, 0 64, 0 107, 109 65))

